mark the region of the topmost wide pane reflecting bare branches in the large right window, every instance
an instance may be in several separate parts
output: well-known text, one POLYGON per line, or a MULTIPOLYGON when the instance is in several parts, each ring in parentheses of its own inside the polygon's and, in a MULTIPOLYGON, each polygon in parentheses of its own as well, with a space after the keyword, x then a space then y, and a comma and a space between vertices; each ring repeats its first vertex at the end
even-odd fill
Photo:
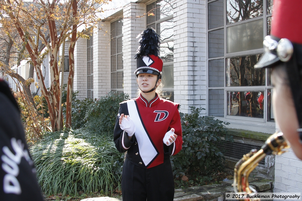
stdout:
POLYGON ((226 24, 240 22, 263 15, 263 0, 226 1, 226 24))

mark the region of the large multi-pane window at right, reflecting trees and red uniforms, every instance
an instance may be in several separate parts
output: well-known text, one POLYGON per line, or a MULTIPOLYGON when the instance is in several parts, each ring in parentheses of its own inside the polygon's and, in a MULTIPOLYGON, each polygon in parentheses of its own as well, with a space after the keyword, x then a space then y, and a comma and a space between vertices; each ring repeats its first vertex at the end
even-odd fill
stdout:
POLYGON ((207 2, 208 114, 274 121, 269 69, 254 69, 270 34, 272 0, 207 2))

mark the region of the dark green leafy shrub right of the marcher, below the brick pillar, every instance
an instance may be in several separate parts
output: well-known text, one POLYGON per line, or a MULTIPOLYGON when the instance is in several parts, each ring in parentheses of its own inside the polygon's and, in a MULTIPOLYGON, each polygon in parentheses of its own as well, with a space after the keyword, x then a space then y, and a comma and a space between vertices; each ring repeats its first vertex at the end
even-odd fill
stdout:
POLYGON ((171 157, 175 182, 183 184, 180 175, 186 175, 189 184, 204 184, 210 181, 210 175, 224 169, 223 152, 215 143, 225 140, 233 142, 232 136, 227 133, 223 121, 214 117, 202 116, 199 113, 204 108, 191 108, 191 114, 181 115, 182 121, 182 150, 171 157))

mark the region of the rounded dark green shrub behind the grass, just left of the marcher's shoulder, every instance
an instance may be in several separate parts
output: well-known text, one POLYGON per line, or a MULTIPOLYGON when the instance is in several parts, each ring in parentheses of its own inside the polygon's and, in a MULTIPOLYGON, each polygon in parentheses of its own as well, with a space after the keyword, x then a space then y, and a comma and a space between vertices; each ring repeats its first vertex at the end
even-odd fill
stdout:
POLYGON ((86 113, 86 127, 94 133, 113 135, 119 103, 129 99, 125 93, 109 92, 102 96, 86 113))

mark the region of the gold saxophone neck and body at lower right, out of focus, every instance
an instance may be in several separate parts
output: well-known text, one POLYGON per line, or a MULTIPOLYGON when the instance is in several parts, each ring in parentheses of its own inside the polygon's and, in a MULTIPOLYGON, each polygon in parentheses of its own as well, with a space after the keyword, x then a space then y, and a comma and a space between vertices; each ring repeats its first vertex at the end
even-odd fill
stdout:
MULTIPOLYGON (((238 194, 257 193, 255 189, 249 186, 249 174, 257 167, 258 163, 265 155, 278 154, 281 155, 288 149, 287 140, 283 138, 283 133, 274 133, 266 140, 265 144, 257 152, 252 149, 248 154, 243 155, 234 168, 234 192, 238 194)), ((244 200, 260 200, 260 199, 244 199, 244 200)))

